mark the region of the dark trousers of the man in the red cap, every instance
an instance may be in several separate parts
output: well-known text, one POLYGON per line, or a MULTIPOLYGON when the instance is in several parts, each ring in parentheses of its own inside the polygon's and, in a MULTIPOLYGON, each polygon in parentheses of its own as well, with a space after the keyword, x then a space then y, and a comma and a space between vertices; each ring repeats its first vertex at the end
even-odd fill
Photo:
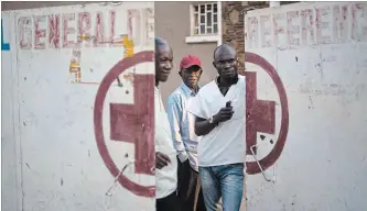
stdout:
POLYGON ((182 211, 206 211, 201 187, 197 196, 196 210, 194 210, 197 178, 198 174, 190 166, 188 159, 184 163, 181 163, 179 159, 177 196, 182 211))

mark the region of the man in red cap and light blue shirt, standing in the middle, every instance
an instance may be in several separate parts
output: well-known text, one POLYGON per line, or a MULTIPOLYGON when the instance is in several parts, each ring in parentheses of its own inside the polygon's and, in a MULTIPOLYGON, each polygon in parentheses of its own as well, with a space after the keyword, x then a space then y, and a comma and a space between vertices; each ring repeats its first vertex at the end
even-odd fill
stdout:
POLYGON ((180 63, 180 76, 183 80, 168 99, 168 115, 172 141, 177 151, 177 196, 185 211, 205 211, 201 186, 197 184, 197 144, 195 116, 187 108, 196 96, 202 76, 201 60, 193 55, 185 56, 180 63))

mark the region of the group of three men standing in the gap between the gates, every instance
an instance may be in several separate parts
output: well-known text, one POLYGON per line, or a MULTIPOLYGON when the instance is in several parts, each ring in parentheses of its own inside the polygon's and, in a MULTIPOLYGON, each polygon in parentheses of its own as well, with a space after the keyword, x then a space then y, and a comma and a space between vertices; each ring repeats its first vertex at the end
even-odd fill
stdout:
POLYGON ((201 89, 201 62, 185 56, 179 73, 183 84, 169 97, 166 113, 158 85, 166 81, 172 62, 170 45, 155 38, 156 210, 217 211, 222 198, 224 210, 238 211, 245 168, 246 80, 238 75, 237 53, 229 45, 218 46, 213 65, 219 76, 201 89))

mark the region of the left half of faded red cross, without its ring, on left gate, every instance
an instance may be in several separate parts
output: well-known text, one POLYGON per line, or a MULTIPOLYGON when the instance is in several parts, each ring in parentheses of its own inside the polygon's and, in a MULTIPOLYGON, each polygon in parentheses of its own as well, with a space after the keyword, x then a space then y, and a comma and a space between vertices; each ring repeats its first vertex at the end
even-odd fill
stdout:
POLYGON ((110 103, 110 138, 133 143, 136 174, 154 175, 153 75, 133 75, 133 104, 110 103))

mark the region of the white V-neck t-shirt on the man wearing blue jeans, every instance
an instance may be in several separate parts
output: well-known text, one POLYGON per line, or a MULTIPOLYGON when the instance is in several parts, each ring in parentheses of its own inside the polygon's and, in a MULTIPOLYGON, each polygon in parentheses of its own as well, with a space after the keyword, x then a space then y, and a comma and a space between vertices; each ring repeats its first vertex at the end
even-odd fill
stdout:
POLYGON ((215 115, 229 100, 235 111, 230 120, 219 123, 202 136, 197 147, 198 166, 245 163, 246 79, 244 76, 238 77, 238 82, 230 86, 226 96, 220 92, 216 80, 211 81, 199 89, 188 108, 191 113, 206 120, 215 115))

